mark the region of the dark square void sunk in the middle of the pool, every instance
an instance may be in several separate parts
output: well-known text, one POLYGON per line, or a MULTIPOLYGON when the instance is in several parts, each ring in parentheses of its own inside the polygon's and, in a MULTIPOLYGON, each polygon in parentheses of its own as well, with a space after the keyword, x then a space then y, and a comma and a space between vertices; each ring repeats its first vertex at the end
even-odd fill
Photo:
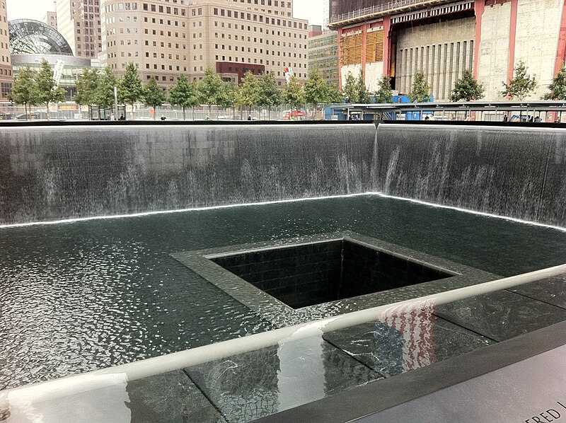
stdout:
POLYGON ((209 258, 292 308, 457 275, 347 239, 209 258))

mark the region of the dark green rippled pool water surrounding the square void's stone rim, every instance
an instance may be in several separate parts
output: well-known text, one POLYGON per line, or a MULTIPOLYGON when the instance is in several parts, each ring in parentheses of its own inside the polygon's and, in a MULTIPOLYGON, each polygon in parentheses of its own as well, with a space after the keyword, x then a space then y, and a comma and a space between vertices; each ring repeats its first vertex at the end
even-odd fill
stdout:
POLYGON ((377 196, 0 228, 0 389, 270 328, 169 256, 351 230, 502 275, 566 233, 377 196))

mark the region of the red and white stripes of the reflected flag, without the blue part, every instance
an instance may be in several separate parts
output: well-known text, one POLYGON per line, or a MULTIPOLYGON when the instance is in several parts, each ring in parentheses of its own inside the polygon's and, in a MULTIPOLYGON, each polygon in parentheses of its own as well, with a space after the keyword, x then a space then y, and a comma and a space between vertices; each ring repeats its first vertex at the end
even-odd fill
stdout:
POLYGON ((412 310, 401 306, 388 311, 381 320, 403 337, 403 370, 413 370, 434 363, 432 326, 437 319, 432 303, 412 310))

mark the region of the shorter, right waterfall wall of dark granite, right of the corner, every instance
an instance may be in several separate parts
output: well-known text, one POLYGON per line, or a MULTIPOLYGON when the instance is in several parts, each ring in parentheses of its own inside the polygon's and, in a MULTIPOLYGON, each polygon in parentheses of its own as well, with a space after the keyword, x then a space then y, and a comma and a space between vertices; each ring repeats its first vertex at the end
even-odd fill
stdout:
POLYGON ((374 190, 566 225, 566 130, 380 124, 374 190))

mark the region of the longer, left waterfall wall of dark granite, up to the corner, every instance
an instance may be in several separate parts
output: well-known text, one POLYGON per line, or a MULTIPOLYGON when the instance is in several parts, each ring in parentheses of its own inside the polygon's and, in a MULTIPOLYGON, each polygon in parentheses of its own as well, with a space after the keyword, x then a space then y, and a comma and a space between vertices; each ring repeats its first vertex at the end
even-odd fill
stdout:
POLYGON ((373 124, 4 127, 0 224, 361 193, 373 124))

